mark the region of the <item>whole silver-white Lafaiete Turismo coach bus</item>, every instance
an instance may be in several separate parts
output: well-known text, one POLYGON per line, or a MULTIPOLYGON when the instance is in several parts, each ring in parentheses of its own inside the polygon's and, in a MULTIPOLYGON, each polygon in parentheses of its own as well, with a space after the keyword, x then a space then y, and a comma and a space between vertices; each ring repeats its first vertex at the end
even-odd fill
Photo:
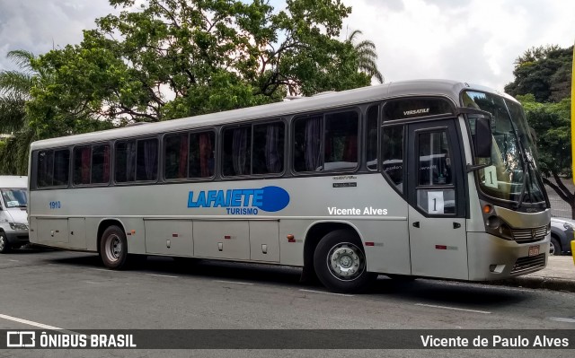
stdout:
POLYGON ((451 81, 387 83, 35 142, 30 240, 483 281, 544 268, 549 201, 523 109, 451 81))

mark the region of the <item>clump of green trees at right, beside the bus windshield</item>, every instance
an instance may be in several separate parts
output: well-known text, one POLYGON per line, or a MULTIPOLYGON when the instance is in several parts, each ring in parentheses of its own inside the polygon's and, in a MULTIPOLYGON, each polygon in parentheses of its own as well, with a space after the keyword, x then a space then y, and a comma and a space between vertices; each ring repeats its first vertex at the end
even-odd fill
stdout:
POLYGON ((517 57, 515 79, 505 91, 525 108, 526 119, 537 136, 537 152, 545 185, 571 205, 575 219, 575 193, 562 178, 571 177, 571 68, 573 48, 552 45, 529 48, 517 57))

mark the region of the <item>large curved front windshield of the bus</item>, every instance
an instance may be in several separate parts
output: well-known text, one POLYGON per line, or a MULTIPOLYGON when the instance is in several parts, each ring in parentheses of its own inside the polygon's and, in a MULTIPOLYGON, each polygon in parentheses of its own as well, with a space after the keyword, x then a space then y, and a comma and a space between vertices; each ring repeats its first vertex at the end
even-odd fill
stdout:
MULTIPOLYGON (((491 165, 476 174, 482 192, 516 203, 544 202, 537 178, 535 144, 521 106, 495 94, 472 91, 463 93, 463 102, 464 107, 486 110, 493 116, 491 165)), ((470 127, 473 135, 473 123, 470 127)), ((481 160, 477 162, 482 164, 481 160)))

